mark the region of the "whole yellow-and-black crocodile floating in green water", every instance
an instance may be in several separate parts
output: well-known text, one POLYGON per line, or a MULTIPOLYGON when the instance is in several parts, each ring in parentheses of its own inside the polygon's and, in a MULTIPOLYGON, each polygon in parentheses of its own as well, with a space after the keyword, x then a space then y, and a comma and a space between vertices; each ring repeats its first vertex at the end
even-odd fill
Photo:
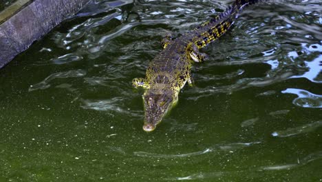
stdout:
POLYGON ((144 88, 143 130, 151 132, 164 115, 178 102, 178 94, 186 83, 192 85, 191 65, 202 62, 208 56, 200 48, 222 37, 233 25, 239 12, 255 0, 236 0, 224 12, 200 26, 171 39, 162 40, 163 50, 149 63, 146 77, 133 79, 135 88, 144 88))

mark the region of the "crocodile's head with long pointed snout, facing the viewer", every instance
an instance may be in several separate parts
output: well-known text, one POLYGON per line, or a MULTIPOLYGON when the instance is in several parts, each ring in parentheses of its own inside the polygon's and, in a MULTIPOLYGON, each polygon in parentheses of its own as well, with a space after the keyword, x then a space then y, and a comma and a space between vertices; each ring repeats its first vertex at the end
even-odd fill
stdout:
POLYGON ((151 132, 178 101, 178 94, 173 90, 149 89, 144 93, 143 99, 145 108, 143 130, 151 132))

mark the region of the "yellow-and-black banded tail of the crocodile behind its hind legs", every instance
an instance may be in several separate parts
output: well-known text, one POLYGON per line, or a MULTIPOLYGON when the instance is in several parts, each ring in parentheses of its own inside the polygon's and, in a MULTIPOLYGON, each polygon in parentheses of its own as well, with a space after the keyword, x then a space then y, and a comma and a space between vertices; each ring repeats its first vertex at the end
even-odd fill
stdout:
POLYGON ((197 48, 203 48, 212 41, 222 37, 224 33, 233 25, 235 19, 237 19, 239 12, 250 4, 256 3, 262 0, 236 0, 233 5, 226 8, 226 10, 217 17, 203 23, 195 31, 196 37, 193 37, 193 41, 197 48))

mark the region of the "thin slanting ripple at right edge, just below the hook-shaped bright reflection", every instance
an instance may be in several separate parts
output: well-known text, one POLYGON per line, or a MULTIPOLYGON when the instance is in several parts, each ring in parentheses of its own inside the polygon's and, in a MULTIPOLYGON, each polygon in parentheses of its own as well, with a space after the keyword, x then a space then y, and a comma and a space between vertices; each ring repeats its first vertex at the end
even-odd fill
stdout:
POLYGON ((322 121, 316 121, 314 123, 308 123, 306 125, 301 125, 295 128, 288 128, 286 130, 279 130, 276 132, 272 132, 272 136, 276 137, 289 137, 294 136, 298 134, 308 133, 316 130, 316 128, 319 128, 322 126, 322 121))

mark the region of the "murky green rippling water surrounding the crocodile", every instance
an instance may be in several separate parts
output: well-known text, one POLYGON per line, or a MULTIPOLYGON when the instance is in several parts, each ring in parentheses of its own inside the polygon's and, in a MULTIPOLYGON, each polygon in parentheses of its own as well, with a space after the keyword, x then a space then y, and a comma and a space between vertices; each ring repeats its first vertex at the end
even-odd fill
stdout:
POLYGON ((322 181, 320 1, 248 7, 142 130, 131 79, 229 3, 96 1, 34 43, 0 70, 0 181, 322 181))

